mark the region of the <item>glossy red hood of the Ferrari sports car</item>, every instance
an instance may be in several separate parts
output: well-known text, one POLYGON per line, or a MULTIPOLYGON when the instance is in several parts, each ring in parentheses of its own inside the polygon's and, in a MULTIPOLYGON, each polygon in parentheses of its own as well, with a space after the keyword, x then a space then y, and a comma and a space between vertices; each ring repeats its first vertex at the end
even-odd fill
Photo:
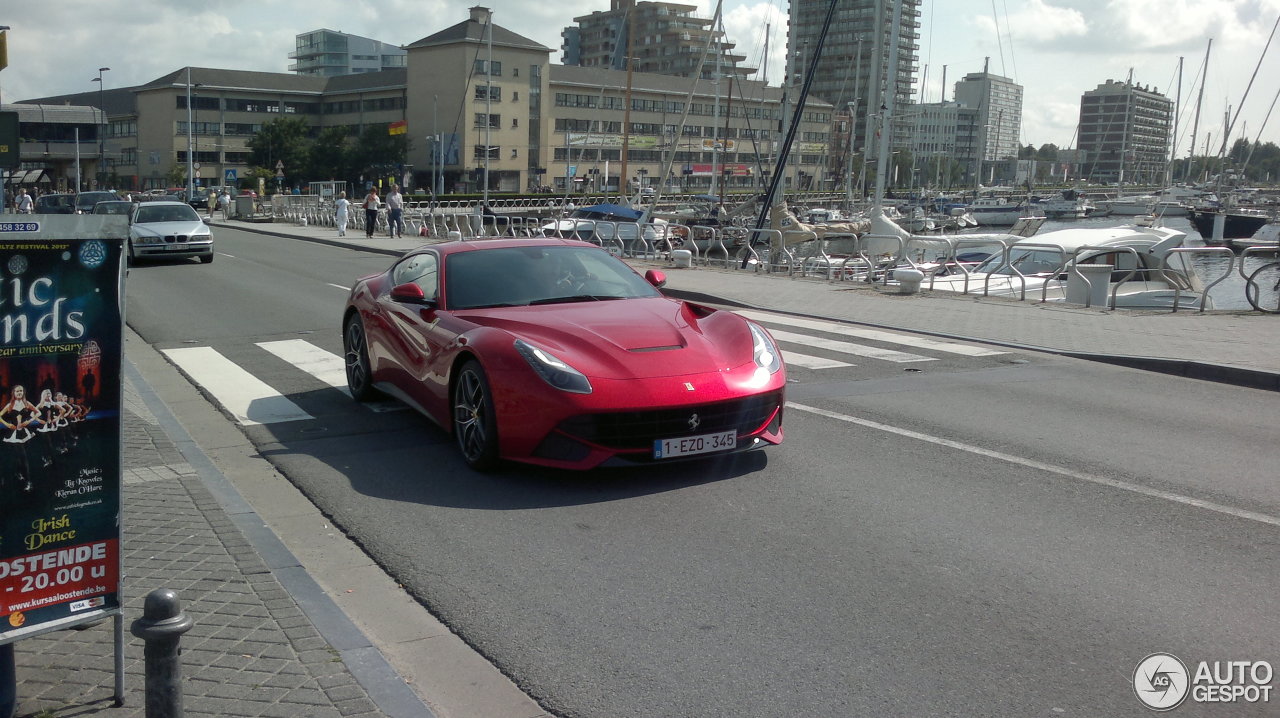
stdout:
POLYGON ((460 312, 554 353, 588 376, 649 379, 751 361, 746 321, 689 302, 636 298, 460 312))

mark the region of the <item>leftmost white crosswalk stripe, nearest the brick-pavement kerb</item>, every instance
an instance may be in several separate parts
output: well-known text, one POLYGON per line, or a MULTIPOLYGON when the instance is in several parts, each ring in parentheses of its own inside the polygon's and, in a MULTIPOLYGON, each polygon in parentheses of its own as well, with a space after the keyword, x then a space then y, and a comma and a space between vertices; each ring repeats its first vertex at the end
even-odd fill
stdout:
POLYGON ((164 349, 164 355, 207 389, 241 424, 278 424, 314 419, 212 347, 164 349))

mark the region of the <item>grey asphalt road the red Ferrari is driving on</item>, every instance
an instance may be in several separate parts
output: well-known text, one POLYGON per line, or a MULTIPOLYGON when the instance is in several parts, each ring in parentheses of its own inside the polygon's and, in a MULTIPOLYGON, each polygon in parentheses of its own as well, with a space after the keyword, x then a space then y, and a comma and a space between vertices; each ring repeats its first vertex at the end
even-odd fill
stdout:
POLYGON ((1033 353, 850 357, 771 324, 797 334, 785 355, 851 365, 791 366, 782 447, 475 475, 426 420, 261 346, 340 355, 342 288, 388 257, 225 229, 215 248, 134 267, 131 326, 305 410, 244 431, 558 715, 1142 715, 1151 653, 1280 663, 1274 393, 1033 353))

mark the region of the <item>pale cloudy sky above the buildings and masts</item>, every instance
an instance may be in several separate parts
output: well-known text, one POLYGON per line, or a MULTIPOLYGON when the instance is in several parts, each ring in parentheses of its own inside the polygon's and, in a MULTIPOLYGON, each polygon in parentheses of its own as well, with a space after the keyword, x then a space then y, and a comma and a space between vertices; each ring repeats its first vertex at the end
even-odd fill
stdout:
MULTIPOLYGON (((722 1, 727 38, 777 84, 787 1, 722 1)), ((716 10, 716 0, 686 4, 704 18, 716 10)), ((575 17, 607 10, 609 0, 5 1, 9 67, 0 70, 0 101, 96 91, 102 67, 111 68, 102 73, 108 88, 187 65, 288 72, 296 35, 329 28, 408 45, 467 19, 472 5, 554 50, 558 63, 561 31, 575 17)), ((1280 90, 1277 20, 1280 0, 922 0, 916 97, 941 100, 945 77, 950 99, 957 79, 987 63, 1024 88, 1020 143, 1069 148, 1083 92, 1132 73, 1137 84, 1178 100, 1181 60, 1178 156, 1187 154, 1197 105, 1197 154, 1206 143, 1217 151, 1229 114, 1231 141, 1280 145, 1280 116, 1271 116, 1280 90)))

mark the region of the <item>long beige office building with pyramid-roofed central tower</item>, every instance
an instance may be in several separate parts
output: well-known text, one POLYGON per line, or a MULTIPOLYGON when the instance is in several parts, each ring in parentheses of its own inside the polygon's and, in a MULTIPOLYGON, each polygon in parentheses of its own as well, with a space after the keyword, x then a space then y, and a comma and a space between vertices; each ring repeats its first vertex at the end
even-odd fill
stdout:
MULTIPOLYGON (((553 65, 552 49, 490 19, 488 9, 472 8, 468 19, 410 44, 401 69, 324 77, 180 68, 146 84, 109 90, 101 97, 109 182, 118 189, 183 186, 189 156, 200 184, 244 186, 246 178, 265 170, 264 188, 274 191, 275 157, 268 157, 269 166, 251 166, 250 141, 264 124, 283 116, 305 120, 312 137, 342 127, 355 138, 370 127, 404 123, 407 163, 392 169, 397 178, 410 175, 417 191, 436 184, 448 193, 480 191, 485 166, 489 188, 500 192, 630 189, 658 184, 668 164, 668 186, 705 191, 714 174, 719 187, 744 189, 772 172, 780 88, 735 82, 735 96, 719 99, 717 115, 709 81, 652 73, 631 73, 628 81, 622 70, 553 65)), ((87 111, 100 96, 87 91, 27 102, 24 123, 51 106, 87 111)), ((92 136, 83 118, 74 122, 92 136)), ((831 124, 831 105, 810 102, 785 187, 823 187, 831 124)), ((51 134, 51 142, 64 141, 68 129, 49 132, 60 133, 51 134)), ((86 152, 91 142, 83 137, 81 142, 86 160, 91 159, 86 152)), ((63 157, 74 145, 54 148, 63 157)), ((61 159, 46 161, 26 145, 23 157, 23 177, 47 169, 65 184, 72 172, 61 159)), ((385 178, 387 169, 369 168, 352 178, 305 178, 300 168, 284 166, 280 184, 369 182, 385 178)), ((82 174, 93 173, 82 169, 82 174)))

